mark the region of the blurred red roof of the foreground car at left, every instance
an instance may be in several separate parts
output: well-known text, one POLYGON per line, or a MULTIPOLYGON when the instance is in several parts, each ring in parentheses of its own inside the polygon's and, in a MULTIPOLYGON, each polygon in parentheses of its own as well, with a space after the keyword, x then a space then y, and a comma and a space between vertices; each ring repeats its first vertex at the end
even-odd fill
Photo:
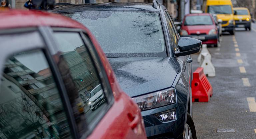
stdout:
POLYGON ((82 24, 65 16, 39 10, 6 10, 0 12, 0 17, 0 29, 51 26, 87 31, 82 24))

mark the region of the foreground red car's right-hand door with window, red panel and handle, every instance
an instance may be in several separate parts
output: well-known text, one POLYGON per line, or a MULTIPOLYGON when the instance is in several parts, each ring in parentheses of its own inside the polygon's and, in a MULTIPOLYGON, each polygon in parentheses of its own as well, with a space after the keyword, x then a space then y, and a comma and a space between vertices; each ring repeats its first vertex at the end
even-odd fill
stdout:
POLYGON ((52 54, 69 96, 77 137, 145 139, 137 104, 124 92, 111 87, 116 82, 108 80, 104 69, 110 65, 99 60, 87 33, 74 29, 53 30, 56 49, 52 54), (89 99, 96 94, 97 98, 89 99))

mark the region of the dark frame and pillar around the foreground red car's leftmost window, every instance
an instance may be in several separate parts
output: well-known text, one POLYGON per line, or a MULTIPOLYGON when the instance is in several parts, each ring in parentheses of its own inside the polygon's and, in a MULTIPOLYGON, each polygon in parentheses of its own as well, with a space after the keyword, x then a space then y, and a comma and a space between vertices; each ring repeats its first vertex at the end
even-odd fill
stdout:
MULTIPOLYGON (((58 94, 60 96, 60 99, 61 99, 61 102, 62 102, 62 105, 63 105, 63 111, 65 112, 65 116, 67 118, 67 122, 68 122, 68 125, 69 125, 69 129, 70 129, 70 134, 71 134, 71 137, 72 138, 77 138, 76 137, 76 131, 75 131, 75 128, 73 125, 73 122, 74 122, 74 119, 72 119, 72 116, 71 116, 71 106, 69 106, 68 104, 68 101, 65 100, 65 98, 68 98, 67 97, 67 93, 66 93, 66 90, 65 88, 63 87, 63 83, 60 81, 60 75, 58 74, 57 70, 56 70, 56 67, 54 65, 54 62, 53 62, 53 59, 52 59, 52 56, 49 52, 49 49, 48 47, 49 46, 52 46, 51 45, 51 41, 52 40, 48 40, 48 36, 47 36, 47 27, 23 27, 23 28, 13 28, 13 29, 4 29, 4 30, 1 30, 0 31, 0 36, 1 35, 12 35, 12 34, 24 34, 24 33, 32 33, 32 32, 37 32, 39 35, 40 35, 40 39, 42 40, 42 44, 40 46, 23 46, 23 47, 17 47, 16 49, 13 49, 13 48, 10 48, 10 49, 5 49, 5 52, 2 53, 1 57, 0 58, 3 58, 3 61, 0 61, 0 69, 1 71, 3 71, 3 65, 4 63, 6 62, 6 60, 14 55, 14 54, 17 54, 17 53, 22 53, 22 52, 29 52, 29 51, 35 51, 35 50, 38 50, 38 51, 41 51, 44 56, 45 56, 45 59, 47 61, 47 64, 49 65, 49 69, 51 70, 52 72, 52 77, 55 81, 55 84, 56 84, 56 88, 58 90, 58 94)), ((2 76, 2 75, 1 75, 2 76)), ((0 81, 0 83, 2 83, 0 81)))

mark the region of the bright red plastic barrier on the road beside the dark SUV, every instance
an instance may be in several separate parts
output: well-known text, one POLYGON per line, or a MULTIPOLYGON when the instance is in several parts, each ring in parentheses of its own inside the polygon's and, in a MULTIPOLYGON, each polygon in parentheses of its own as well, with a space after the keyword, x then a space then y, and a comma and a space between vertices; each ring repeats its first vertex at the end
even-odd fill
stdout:
POLYGON ((203 68, 197 68, 193 73, 192 102, 208 102, 212 94, 212 85, 204 74, 203 68))

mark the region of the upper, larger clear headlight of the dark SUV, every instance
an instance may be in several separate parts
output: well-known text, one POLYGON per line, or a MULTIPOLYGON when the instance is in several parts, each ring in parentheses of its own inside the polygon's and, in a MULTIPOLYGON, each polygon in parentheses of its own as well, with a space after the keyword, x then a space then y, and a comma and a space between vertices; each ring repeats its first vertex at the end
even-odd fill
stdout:
POLYGON ((132 98, 141 111, 176 103, 175 88, 169 88, 132 98))

